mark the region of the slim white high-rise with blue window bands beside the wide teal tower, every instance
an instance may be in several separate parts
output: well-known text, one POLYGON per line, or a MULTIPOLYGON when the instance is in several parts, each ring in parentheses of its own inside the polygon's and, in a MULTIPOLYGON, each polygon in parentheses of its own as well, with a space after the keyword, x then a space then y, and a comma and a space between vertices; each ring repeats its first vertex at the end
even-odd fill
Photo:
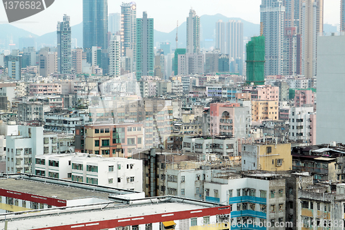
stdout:
POLYGON ((135 72, 137 59, 137 5, 135 2, 121 5, 121 56, 130 59, 130 72, 135 72))

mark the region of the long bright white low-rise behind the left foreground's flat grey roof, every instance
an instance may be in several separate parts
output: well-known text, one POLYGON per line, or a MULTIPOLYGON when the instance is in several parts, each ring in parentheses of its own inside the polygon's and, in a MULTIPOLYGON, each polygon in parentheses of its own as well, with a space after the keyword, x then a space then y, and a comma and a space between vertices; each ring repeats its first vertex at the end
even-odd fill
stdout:
POLYGON ((70 153, 38 155, 35 161, 35 175, 143 191, 141 160, 70 153))

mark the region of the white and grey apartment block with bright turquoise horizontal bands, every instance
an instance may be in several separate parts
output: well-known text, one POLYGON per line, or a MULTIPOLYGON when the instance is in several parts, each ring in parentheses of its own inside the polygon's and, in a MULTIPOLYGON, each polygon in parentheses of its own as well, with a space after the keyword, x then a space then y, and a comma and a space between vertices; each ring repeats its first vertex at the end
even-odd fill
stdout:
POLYGON ((246 175, 222 175, 205 182, 204 198, 208 202, 228 203, 231 207, 231 224, 239 229, 280 229, 275 223, 285 222, 285 179, 270 173, 246 175), (250 222, 249 222, 250 221, 250 222), (253 223, 261 223, 258 225, 253 223), (270 222, 272 227, 264 225, 270 222))

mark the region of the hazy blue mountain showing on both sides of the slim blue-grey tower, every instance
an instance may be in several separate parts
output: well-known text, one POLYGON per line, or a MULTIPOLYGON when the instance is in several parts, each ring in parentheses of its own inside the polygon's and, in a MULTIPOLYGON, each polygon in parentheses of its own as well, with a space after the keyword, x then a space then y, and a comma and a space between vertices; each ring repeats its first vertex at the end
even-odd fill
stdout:
MULTIPOLYGON (((83 23, 71 27, 72 39, 77 39, 77 46, 83 47, 83 23)), ((36 39, 37 49, 45 46, 57 46, 57 32, 48 32, 36 39)))

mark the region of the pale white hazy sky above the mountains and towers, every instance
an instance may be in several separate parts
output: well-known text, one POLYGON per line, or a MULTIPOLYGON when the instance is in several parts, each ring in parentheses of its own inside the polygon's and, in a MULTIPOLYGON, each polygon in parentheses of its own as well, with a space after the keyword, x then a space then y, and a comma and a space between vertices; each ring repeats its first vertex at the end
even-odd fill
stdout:
MULTIPOLYGON (((62 21, 63 14, 66 14, 70 15, 71 24, 74 26, 83 19, 82 2, 82 0, 55 0, 50 8, 12 25, 36 35, 43 35, 55 31, 57 21, 62 21)), ((108 13, 120 12, 121 2, 108 0, 108 13)), ((260 0, 137 0, 135 2, 137 17, 141 17, 142 12, 147 11, 148 17, 155 19, 155 29, 163 32, 173 30, 177 20, 179 24, 186 21, 190 8, 196 10, 199 16, 220 13, 226 17, 240 17, 253 23, 260 21, 260 0)), ((339 8, 340 0, 324 0, 324 23, 339 24, 339 8)), ((8 23, 3 6, 0 6, 0 23, 8 23)))

